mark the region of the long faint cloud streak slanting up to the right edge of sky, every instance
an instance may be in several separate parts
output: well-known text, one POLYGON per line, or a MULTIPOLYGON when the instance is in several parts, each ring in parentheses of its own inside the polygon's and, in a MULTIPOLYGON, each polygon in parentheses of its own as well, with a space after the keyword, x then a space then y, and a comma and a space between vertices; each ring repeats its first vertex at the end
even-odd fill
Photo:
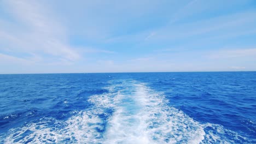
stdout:
POLYGON ((222 35, 243 35, 252 33, 252 26, 256 23, 256 12, 246 11, 236 14, 222 15, 196 22, 181 23, 179 25, 167 25, 158 29, 151 41, 174 41, 195 37, 209 38, 222 37, 222 35), (245 27, 246 26, 246 27, 245 27), (246 34, 247 34, 246 33, 246 34))

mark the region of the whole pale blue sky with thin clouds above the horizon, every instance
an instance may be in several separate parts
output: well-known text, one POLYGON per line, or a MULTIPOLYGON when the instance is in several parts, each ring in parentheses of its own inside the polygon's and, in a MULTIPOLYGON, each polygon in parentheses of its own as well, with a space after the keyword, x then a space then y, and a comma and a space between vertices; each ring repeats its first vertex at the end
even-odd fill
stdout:
POLYGON ((0 1, 0 74, 255 70, 254 0, 0 1))

